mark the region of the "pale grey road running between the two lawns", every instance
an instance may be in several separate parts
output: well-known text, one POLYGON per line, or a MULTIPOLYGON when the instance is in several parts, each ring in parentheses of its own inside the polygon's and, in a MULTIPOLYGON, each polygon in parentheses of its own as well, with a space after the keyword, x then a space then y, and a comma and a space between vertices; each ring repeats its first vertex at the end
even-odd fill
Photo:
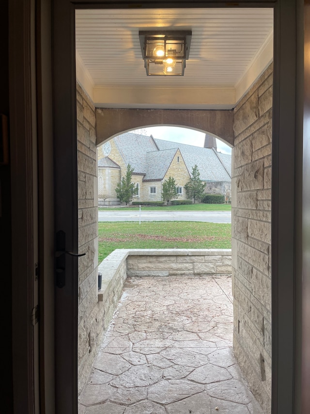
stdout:
MULTIPOLYGON (((139 221, 139 211, 99 211, 98 221, 139 221)), ((141 209, 141 221, 205 221, 231 223, 230 211, 146 211, 141 209)))

